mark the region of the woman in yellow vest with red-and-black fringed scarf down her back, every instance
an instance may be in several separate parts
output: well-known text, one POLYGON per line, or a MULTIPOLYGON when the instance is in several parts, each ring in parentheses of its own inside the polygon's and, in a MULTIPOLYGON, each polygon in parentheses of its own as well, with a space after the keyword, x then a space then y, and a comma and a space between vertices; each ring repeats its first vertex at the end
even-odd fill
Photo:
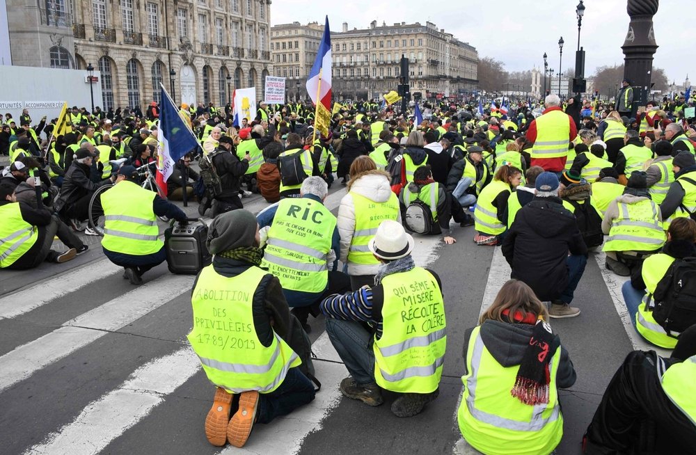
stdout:
POLYGON ((546 305, 518 280, 500 288, 464 334, 464 393, 459 431, 484 454, 552 453, 563 436, 558 389, 576 372, 546 323, 546 305))

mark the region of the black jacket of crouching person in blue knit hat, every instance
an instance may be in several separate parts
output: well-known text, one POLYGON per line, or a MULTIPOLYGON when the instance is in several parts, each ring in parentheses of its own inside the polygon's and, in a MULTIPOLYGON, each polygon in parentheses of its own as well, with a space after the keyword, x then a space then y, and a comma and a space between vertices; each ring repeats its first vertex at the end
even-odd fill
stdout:
POLYGON ((575 216, 560 198, 535 198, 522 207, 503 241, 510 278, 525 282, 541 301, 553 301, 568 285, 566 258, 587 255, 575 216))

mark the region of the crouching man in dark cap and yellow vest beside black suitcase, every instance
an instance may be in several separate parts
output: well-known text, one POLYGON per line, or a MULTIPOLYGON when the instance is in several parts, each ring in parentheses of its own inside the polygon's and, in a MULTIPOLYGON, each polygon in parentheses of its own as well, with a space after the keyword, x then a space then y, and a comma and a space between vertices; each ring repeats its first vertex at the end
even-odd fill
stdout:
POLYGON ((138 184, 133 166, 122 166, 113 188, 100 195, 104 210, 104 255, 122 266, 123 278, 132 285, 143 284, 143 273, 166 260, 164 242, 159 239, 157 216, 180 222, 186 214, 171 202, 138 184))

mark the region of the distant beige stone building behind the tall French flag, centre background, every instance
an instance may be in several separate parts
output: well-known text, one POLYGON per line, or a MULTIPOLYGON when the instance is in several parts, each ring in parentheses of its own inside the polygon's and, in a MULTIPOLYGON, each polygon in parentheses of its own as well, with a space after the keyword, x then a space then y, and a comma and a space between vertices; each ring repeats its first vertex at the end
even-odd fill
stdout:
MULTIPOLYGON (((283 77, 288 74, 289 95, 296 84, 299 94, 306 96, 304 81, 314 63, 323 29, 320 24, 302 26, 297 22, 271 29, 271 41, 274 41, 271 57, 276 75, 283 77), (303 31, 311 35, 304 40, 297 38, 305 48, 293 47, 290 51, 287 48, 289 35, 299 35, 303 31), (284 32, 288 33, 285 39, 284 32), (276 40, 280 42, 280 48, 276 40), (290 63, 292 54, 294 60, 290 63)), ((331 32, 331 47, 331 90, 336 99, 379 98, 390 90, 397 90, 402 56, 409 58, 411 97, 415 95, 416 99, 419 95, 422 98, 464 95, 471 93, 478 82, 475 47, 457 40, 431 22, 377 26, 377 21, 373 21, 368 29, 352 30, 344 22, 341 31, 331 32)))

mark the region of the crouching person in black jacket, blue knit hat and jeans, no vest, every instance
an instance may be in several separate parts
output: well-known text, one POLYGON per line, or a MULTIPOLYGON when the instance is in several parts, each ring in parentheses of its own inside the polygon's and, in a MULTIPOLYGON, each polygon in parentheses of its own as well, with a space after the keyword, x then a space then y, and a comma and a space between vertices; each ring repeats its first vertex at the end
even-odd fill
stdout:
POLYGON ((585 271, 587 246, 575 216, 558 197, 558 177, 541 173, 535 189, 503 241, 510 278, 525 282, 541 301, 551 301, 549 317, 576 317, 580 309, 569 304, 585 271))

